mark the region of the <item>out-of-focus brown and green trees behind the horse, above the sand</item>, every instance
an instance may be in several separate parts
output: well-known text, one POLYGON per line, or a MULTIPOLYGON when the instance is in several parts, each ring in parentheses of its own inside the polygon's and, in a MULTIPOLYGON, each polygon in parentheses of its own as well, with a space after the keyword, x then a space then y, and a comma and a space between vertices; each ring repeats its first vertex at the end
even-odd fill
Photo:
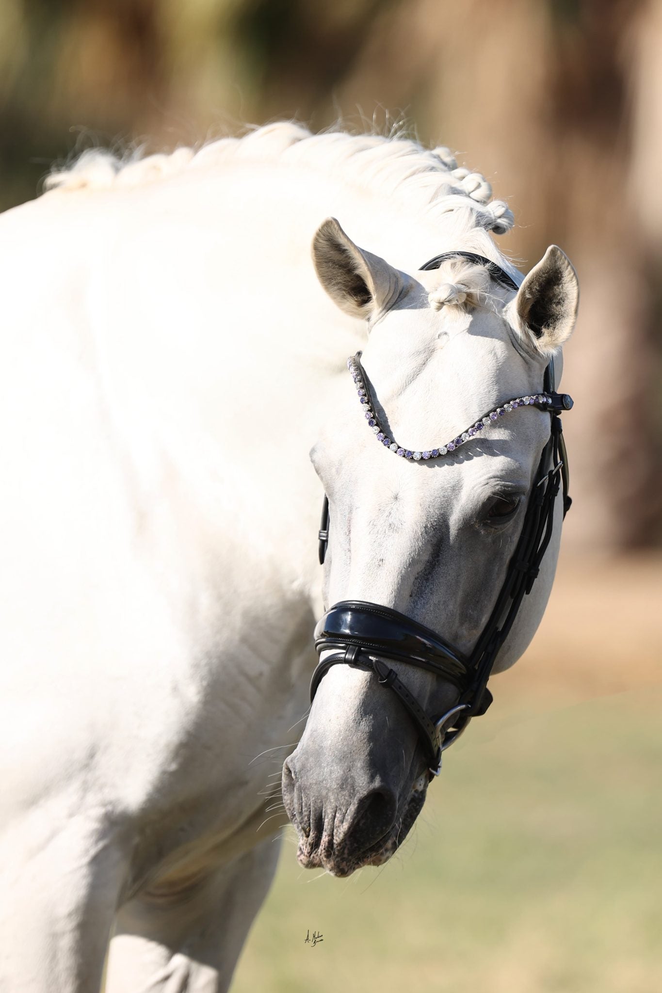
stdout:
POLYGON ((662 0, 3 0, 0 206, 35 196, 54 160, 89 144, 405 116, 508 200, 520 225, 508 253, 531 265, 554 240, 577 265, 568 538, 650 544, 662 536, 660 51, 662 0))

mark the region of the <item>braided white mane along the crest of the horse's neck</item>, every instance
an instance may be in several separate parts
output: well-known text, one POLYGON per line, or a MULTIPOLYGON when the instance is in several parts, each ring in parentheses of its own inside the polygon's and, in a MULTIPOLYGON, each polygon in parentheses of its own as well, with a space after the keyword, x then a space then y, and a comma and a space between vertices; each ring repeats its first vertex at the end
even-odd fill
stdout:
MULTIPOLYGON (((94 149, 70 166, 55 169, 47 190, 107 190, 136 187, 185 170, 209 169, 232 161, 282 161, 325 169, 361 186, 379 186, 385 196, 403 195, 414 210, 436 214, 469 208, 476 227, 504 234, 513 224, 507 204, 491 200, 489 183, 479 173, 459 168, 448 148, 426 149, 403 137, 351 135, 344 131, 312 134, 290 121, 267 124, 241 138, 221 138, 198 150, 126 157, 94 149)), ((432 216, 431 216, 432 215, 432 216)))

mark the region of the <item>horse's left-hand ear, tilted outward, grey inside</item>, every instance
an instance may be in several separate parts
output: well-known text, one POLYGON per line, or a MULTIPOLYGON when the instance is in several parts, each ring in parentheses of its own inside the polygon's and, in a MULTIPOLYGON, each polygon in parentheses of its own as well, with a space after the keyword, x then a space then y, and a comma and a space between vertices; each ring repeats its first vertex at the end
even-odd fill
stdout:
POLYGON ((355 245, 335 217, 318 228, 313 261, 333 303, 351 317, 369 319, 387 311, 404 286, 402 273, 355 245))

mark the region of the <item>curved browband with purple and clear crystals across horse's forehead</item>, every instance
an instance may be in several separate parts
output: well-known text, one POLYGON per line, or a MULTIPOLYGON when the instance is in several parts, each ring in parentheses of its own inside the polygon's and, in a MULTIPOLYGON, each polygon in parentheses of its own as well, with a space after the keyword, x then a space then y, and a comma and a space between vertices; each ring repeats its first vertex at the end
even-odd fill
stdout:
POLYGON ((478 418, 475 424, 466 428, 462 434, 458 435, 457 438, 452 438, 445 445, 440 445, 439 448, 427 449, 424 452, 414 452, 399 445, 392 438, 389 438, 379 424, 377 415, 373 410, 373 404, 370 402, 370 393, 365 382, 359 355, 360 353, 357 353, 347 358, 347 368, 356 385, 358 399, 362 405, 368 427, 372 429, 377 441, 384 448, 393 452, 394 455, 399 455, 403 459, 413 459, 415 462, 418 462, 420 459, 439 459, 443 455, 448 455, 449 452, 455 452, 464 442, 470 441, 471 438, 474 438, 475 435, 479 434, 493 421, 498 420, 499 417, 503 417, 504 414, 515 410, 517 407, 532 406, 537 407, 539 410, 547 410, 548 412, 560 412, 561 410, 570 410, 573 406, 573 401, 567 393, 534 393, 531 396, 516 396, 512 400, 507 400, 498 407, 494 407, 493 410, 487 411, 486 414, 478 418))

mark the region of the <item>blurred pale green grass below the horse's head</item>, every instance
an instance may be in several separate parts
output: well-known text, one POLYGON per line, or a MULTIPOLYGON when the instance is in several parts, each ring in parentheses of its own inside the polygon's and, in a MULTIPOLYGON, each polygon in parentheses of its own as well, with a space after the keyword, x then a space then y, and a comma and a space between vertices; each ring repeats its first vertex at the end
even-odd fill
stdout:
POLYGON ((232 993, 659 993, 661 705, 520 699, 474 722, 380 870, 305 872, 286 835, 232 993))

